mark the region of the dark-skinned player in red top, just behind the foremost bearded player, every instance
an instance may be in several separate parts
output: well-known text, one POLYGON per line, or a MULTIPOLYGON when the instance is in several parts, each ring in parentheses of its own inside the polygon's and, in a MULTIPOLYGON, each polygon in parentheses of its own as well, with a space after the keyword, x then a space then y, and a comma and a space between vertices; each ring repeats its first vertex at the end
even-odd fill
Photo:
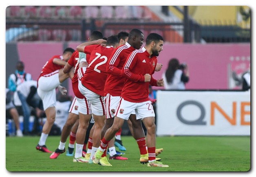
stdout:
MULTIPOLYGON (((108 128, 113 125, 114 115, 116 112, 116 108, 120 99, 121 90, 124 86, 124 77, 121 76, 121 69, 126 62, 128 55, 136 50, 141 48, 143 44, 144 35, 138 29, 133 29, 129 33, 128 41, 126 45, 120 46, 117 48, 108 62, 107 72, 108 77, 105 84, 105 93, 106 95, 106 123, 102 129, 102 138, 108 128)), ((132 121, 132 135, 137 141, 140 150, 140 162, 147 163, 148 162, 148 152, 146 149, 146 139, 145 134, 141 125, 141 120, 136 120, 135 111, 132 112, 128 121, 132 121), (134 132, 134 133, 133 133, 134 132)), ((112 140, 111 140, 112 141, 112 140)), ((111 142, 110 141, 110 142, 111 142)), ((109 142, 109 146, 111 144, 109 142)), ((162 151, 162 149, 160 149, 162 151)), ((158 150, 157 153, 161 152, 158 150)), ((104 155, 103 155, 104 156, 104 155)), ((112 159, 112 158, 110 158, 112 159)), ((157 160, 161 160, 157 158, 157 160)), ((99 162, 103 164, 101 161, 99 162)))

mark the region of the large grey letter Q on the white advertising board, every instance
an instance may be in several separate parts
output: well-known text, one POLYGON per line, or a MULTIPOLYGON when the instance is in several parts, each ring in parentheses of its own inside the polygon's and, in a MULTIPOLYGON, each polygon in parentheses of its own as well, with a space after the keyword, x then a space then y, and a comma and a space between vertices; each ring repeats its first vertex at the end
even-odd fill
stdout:
POLYGON ((203 119, 205 118, 205 108, 203 107, 203 105, 201 103, 199 103, 197 101, 185 101, 185 102, 181 103, 177 109, 177 118, 184 124, 188 124, 188 125, 206 125, 206 122, 203 121, 203 119), (183 107, 185 107, 187 105, 196 105, 197 107, 199 107, 199 109, 201 111, 201 115, 199 116, 199 118, 197 120, 188 121, 188 120, 185 120, 185 118, 183 118, 183 116, 181 115, 181 110, 183 109, 183 107))

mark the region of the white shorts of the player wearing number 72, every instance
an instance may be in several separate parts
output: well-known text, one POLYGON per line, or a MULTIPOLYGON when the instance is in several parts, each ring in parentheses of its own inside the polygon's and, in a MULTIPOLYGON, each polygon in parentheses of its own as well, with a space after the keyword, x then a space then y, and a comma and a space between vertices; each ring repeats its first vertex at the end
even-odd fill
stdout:
POLYGON ((92 113, 96 116, 105 115, 105 101, 104 96, 99 96, 94 92, 90 91, 82 85, 82 82, 79 82, 78 89, 81 94, 91 103, 92 113))

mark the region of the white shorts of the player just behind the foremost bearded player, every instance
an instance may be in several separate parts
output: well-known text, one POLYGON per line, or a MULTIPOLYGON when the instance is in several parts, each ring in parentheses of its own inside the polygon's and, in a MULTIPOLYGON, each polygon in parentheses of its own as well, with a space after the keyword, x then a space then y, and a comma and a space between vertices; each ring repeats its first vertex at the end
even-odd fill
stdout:
MULTIPOLYGON (((110 94, 106 95, 106 119, 115 117, 115 112, 119 101, 120 96, 112 96, 110 94)), ((131 114, 135 114, 135 110, 133 110, 131 114)))

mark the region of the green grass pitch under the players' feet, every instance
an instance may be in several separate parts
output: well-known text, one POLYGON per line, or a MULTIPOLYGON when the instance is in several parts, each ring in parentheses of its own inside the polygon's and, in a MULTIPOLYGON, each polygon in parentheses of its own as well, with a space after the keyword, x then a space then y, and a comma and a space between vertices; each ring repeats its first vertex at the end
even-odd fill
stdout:
MULTIPOLYGON (((19 172, 245 172, 251 167, 250 136, 157 137, 157 148, 163 148, 163 153, 157 157, 168 164, 168 168, 140 164, 139 149, 131 136, 122 136, 127 149, 123 156, 129 160, 110 160, 113 166, 73 163, 73 157, 67 157, 66 152, 57 159, 50 159, 50 153, 35 149, 39 139, 39 136, 6 137, 6 169, 19 172)), ((59 142, 60 136, 49 136, 46 146, 54 151, 59 142)))

